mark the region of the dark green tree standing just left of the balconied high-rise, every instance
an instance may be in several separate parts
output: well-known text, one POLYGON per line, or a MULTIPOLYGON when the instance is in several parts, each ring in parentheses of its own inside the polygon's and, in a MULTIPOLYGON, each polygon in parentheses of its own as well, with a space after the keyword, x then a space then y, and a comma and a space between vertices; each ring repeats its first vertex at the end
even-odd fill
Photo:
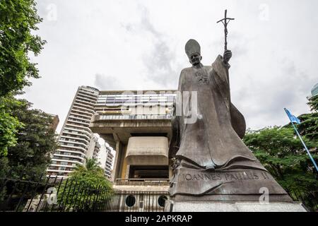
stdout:
POLYGON ((8 147, 8 155, 2 158, 7 159, 11 177, 24 173, 25 179, 35 179, 46 173, 50 155, 58 147, 57 137, 49 114, 30 109, 32 104, 27 100, 19 102, 20 105, 11 108, 11 113, 23 126, 17 131, 17 144, 8 147))

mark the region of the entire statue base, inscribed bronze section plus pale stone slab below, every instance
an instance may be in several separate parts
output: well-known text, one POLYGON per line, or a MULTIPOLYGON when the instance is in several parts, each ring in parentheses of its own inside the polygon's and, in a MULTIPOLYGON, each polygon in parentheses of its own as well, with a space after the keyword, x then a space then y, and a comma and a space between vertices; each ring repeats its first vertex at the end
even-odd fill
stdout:
POLYGON ((167 212, 305 212, 271 174, 259 169, 178 167, 170 181, 167 212))

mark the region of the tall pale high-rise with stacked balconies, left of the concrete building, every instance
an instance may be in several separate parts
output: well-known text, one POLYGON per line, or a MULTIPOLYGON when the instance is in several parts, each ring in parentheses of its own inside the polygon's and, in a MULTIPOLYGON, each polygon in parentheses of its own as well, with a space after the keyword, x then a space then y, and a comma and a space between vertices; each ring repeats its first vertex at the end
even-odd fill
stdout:
POLYGON ((100 145, 88 128, 94 115, 99 91, 89 86, 78 88, 59 134, 59 148, 52 156, 47 175, 66 177, 85 157, 98 155, 100 145))

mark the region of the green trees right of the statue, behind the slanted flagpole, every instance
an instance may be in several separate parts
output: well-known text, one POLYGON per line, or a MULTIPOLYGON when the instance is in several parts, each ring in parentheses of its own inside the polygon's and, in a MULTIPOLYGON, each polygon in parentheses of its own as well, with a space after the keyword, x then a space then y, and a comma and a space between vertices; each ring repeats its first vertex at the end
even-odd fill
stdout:
MULTIPOLYGON (((308 148, 316 146, 307 138, 303 139, 308 148)), ((244 142, 284 189, 317 190, 314 166, 292 128, 275 126, 249 131, 244 142)), ((318 160, 317 154, 313 157, 318 160)))

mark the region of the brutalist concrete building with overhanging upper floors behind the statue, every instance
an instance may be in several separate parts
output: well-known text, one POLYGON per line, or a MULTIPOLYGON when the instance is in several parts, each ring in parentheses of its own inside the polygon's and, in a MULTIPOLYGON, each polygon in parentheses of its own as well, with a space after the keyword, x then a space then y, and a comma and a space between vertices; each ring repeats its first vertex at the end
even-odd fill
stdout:
POLYGON ((112 181, 124 191, 167 191, 175 90, 100 91, 90 130, 116 151, 112 181))

